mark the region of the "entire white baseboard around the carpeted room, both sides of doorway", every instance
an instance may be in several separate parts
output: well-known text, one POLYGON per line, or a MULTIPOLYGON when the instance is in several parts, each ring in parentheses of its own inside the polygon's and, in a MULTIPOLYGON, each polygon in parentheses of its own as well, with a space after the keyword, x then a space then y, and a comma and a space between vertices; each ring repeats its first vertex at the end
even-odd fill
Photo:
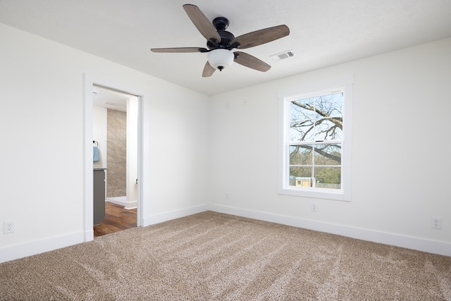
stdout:
MULTIPOLYGON (((259 219, 261 221, 270 221, 273 223, 281 223, 298 228, 306 228, 309 230, 332 233, 350 238, 379 242, 385 245, 393 245, 396 247, 405 247, 407 249, 418 250, 422 252, 451 256, 451 243, 449 242, 428 240, 425 238, 416 238, 395 233, 373 231, 371 229, 342 226, 333 223, 301 219, 294 216, 270 214, 262 211, 227 207, 218 204, 204 204, 185 209, 166 211, 161 214, 154 214, 152 216, 146 216, 144 217, 143 226, 150 226, 155 223, 161 223, 163 221, 169 221, 171 219, 179 219, 184 216, 189 216, 209 210, 224 214, 233 214, 236 216, 247 217, 249 219, 259 219)), ((76 245, 78 243, 84 242, 85 240, 89 241, 92 239, 93 234, 91 233, 91 231, 87 231, 87 233, 68 233, 66 235, 54 236, 51 238, 45 238, 43 240, 35 240, 25 242, 23 244, 0 247, 0 263, 32 256, 43 252, 49 252, 52 250, 60 249, 61 247, 76 245)))

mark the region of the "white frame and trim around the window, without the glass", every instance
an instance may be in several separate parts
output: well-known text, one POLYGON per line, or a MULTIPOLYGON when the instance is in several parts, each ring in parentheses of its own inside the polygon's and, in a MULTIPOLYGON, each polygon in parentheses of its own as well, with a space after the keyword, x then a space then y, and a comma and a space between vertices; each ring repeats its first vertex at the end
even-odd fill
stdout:
POLYGON ((322 79, 318 81, 302 82, 302 87, 281 90, 279 92, 279 175, 278 193, 280 195, 294 195, 299 197, 311 197, 321 199, 333 199, 351 201, 352 192, 352 84, 353 75, 336 78, 322 79), (288 147, 289 130, 289 104, 293 99, 306 98, 308 94, 323 92, 343 92, 343 130, 342 130, 342 165, 341 188, 302 188, 289 185, 290 156, 288 147))

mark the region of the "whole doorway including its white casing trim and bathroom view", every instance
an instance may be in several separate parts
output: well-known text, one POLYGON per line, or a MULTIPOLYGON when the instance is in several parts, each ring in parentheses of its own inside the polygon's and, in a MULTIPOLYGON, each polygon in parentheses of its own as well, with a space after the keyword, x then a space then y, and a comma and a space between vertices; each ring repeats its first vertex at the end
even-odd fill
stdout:
POLYGON ((142 188, 138 185, 142 175, 141 102, 139 94, 98 84, 85 75, 85 241, 142 226, 142 188), (109 118, 117 128, 108 128, 109 118), (93 160, 94 146, 97 161, 95 156, 93 160), (114 156, 119 158, 116 162, 111 159, 114 156), (103 229, 97 233, 92 219, 96 210, 93 169, 94 173, 105 170, 104 201, 108 201, 104 202, 104 219, 96 226, 103 229))

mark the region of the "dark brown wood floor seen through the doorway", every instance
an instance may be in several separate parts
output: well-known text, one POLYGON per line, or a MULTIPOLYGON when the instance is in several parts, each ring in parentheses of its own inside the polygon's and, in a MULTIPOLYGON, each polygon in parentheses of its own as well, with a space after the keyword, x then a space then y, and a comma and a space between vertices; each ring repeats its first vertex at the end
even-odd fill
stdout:
POLYGON ((136 227, 136 209, 105 202, 105 219, 94 226, 94 238, 136 227))

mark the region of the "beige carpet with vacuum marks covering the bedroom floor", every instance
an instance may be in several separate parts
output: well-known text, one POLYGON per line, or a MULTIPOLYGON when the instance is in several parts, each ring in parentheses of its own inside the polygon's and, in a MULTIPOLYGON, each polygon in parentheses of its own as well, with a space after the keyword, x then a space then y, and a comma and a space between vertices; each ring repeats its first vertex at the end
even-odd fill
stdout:
POLYGON ((204 212, 0 264, 0 300, 451 300, 451 257, 204 212))

